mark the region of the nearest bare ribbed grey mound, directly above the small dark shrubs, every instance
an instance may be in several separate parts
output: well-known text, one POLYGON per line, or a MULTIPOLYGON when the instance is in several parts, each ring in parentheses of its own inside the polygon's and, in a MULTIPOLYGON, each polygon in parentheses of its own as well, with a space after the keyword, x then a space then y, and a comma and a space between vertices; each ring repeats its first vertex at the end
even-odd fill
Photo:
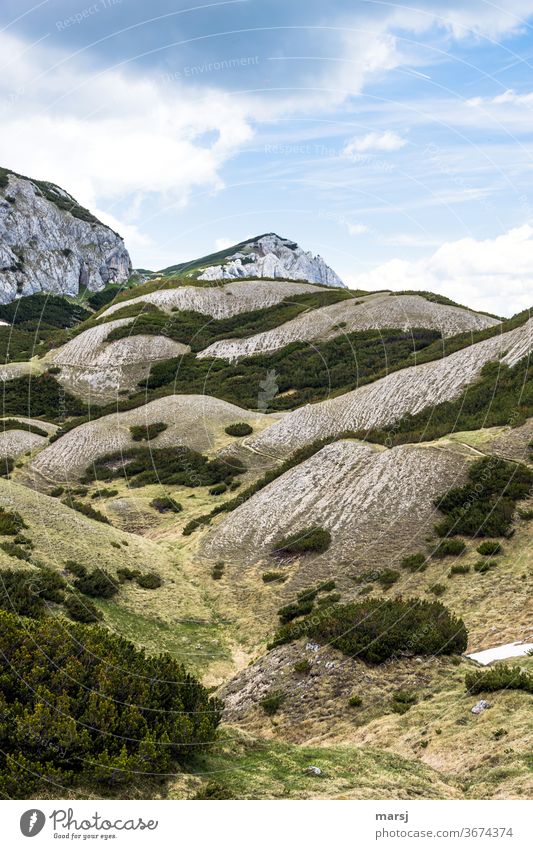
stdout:
MULTIPOLYGON (((208 534, 205 554, 251 564, 269 557, 276 538, 318 524, 332 536, 315 558, 324 577, 346 581, 346 563, 384 568, 424 544, 440 515, 435 497, 462 482, 474 456, 454 447, 332 443, 233 510, 208 534)), ((307 572, 301 580, 312 583, 307 572)))

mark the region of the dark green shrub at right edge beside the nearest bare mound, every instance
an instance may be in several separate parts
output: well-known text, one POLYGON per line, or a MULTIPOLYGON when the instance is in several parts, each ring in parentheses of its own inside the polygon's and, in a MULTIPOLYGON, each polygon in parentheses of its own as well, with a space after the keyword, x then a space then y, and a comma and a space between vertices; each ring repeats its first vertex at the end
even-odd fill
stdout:
POLYGON ((520 463, 487 457, 470 466, 466 486, 449 490, 435 502, 446 518, 439 536, 506 536, 516 502, 533 486, 533 472, 520 463))

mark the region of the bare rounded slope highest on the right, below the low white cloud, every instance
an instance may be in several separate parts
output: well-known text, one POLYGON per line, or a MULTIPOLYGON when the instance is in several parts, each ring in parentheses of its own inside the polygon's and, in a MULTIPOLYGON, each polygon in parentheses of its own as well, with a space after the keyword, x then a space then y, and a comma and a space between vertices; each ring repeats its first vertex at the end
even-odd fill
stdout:
POLYGON ((493 327, 498 320, 461 307, 428 301, 420 295, 380 293, 361 301, 341 301, 320 309, 310 310, 285 324, 257 333, 247 339, 226 339, 215 342, 199 357, 220 357, 237 360, 252 354, 276 351, 291 342, 313 342, 331 339, 357 330, 394 327, 405 331, 415 327, 438 330, 443 337, 465 330, 493 327))

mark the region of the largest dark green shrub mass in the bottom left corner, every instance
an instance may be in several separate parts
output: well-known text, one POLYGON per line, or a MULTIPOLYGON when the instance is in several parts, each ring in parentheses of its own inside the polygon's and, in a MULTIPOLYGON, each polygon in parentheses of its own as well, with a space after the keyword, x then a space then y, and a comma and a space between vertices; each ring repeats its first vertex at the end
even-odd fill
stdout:
POLYGON ((140 774, 157 795, 157 776, 215 740, 220 703, 204 687, 169 654, 147 655, 99 625, 0 611, 0 656, 2 798, 38 798, 50 781, 124 798, 140 774))

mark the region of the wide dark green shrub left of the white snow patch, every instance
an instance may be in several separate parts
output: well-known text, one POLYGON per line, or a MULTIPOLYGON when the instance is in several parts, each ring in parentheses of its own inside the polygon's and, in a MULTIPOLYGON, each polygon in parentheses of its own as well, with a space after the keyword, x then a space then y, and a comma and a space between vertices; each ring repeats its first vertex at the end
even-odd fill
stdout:
POLYGON ((271 645, 303 636, 368 663, 405 655, 461 653, 467 643, 464 622, 439 601, 401 598, 336 605, 320 616, 288 622, 271 645))

